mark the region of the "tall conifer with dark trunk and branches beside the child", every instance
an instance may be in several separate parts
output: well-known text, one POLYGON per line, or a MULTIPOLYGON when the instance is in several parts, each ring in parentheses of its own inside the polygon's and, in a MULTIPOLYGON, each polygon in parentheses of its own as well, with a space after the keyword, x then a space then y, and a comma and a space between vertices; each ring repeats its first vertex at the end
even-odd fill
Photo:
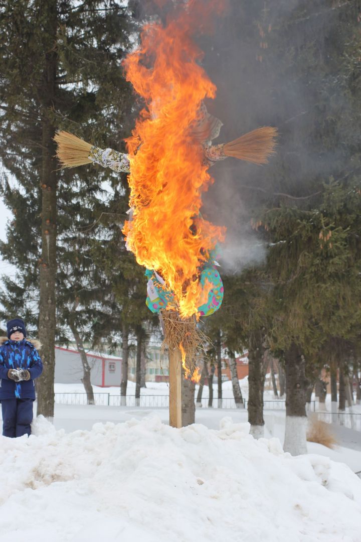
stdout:
MULTIPOLYGON (((86 137, 97 133, 119 148, 133 101, 119 64, 129 45, 129 13, 111 0, 20 1, 2 5, 0 30, 0 159, 19 187, 11 190, 3 179, 5 203, 16 216, 1 250, 18 269, 5 296, 8 307, 18 306, 18 294, 32 304, 22 312, 31 311, 43 343, 38 412, 52 417, 57 236, 71 219, 69 183, 86 177, 56 171, 52 137, 67 128, 86 137)), ((87 179, 89 195, 100 178, 87 179)))

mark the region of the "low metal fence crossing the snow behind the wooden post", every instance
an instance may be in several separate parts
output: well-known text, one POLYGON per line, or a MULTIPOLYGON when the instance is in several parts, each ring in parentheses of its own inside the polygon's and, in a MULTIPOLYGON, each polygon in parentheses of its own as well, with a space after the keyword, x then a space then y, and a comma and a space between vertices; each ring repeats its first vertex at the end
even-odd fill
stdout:
MULTIPOLYGON (((100 392, 94 393, 94 401, 96 405, 103 406, 140 406, 141 408, 168 408, 169 396, 168 395, 141 395, 139 399, 136 399, 134 395, 126 396, 126 404, 124 404, 124 397, 120 395, 111 395, 110 393, 100 392)), ((86 393, 74 393, 64 392, 55 393, 55 403, 67 404, 67 405, 86 405, 87 394, 86 393)), ((236 405, 234 398, 226 397, 223 399, 213 398, 212 408, 220 409, 247 409, 248 400, 245 399, 243 403, 236 405)), ((196 405, 202 408, 209 408, 209 399, 204 397, 201 399, 201 403, 196 405)), ((311 402, 311 410, 315 410, 315 402, 311 402)), ((285 410, 286 402, 275 399, 274 401, 264 401, 264 410, 285 410)))

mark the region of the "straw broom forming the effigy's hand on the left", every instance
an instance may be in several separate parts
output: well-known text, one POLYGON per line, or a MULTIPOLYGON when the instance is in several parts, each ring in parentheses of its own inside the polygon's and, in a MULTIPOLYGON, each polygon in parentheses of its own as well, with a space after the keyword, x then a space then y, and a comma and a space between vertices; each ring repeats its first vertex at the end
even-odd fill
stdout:
POLYGON ((88 158, 93 145, 86 143, 86 141, 76 137, 76 135, 64 131, 57 132, 54 141, 57 144, 56 156, 62 168, 93 163, 93 160, 88 158))

